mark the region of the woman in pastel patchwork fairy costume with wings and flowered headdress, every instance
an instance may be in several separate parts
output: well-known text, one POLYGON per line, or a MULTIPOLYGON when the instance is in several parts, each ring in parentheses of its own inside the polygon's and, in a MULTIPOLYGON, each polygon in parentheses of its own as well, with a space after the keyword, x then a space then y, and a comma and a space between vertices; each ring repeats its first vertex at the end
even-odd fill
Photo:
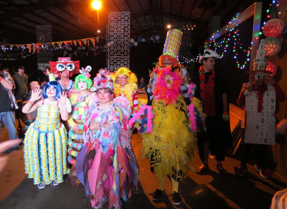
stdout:
POLYGON ((129 101, 123 96, 112 100, 113 80, 107 70, 94 79, 99 102, 93 103, 86 115, 86 143, 77 156, 76 174, 85 186, 92 207, 122 208, 131 197, 131 186, 137 185, 138 166, 129 143, 129 101))

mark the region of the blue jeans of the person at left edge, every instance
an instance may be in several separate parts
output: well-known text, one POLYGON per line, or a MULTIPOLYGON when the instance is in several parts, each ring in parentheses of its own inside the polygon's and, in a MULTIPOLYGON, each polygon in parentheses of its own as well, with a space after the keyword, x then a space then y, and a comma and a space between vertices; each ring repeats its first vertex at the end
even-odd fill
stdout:
MULTIPOLYGON (((18 139, 14 111, 0 112, 0 119, 3 121, 4 125, 8 130, 9 140, 18 139)), ((1 126, 0 126, 0 132, 1 132, 1 126)), ((15 148, 17 146, 18 144, 12 148, 15 148)))

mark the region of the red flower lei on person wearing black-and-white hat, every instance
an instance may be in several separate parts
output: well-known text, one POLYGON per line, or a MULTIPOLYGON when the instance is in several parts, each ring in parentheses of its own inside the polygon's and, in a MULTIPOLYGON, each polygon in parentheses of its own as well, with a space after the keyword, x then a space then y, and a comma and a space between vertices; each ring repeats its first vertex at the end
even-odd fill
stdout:
POLYGON ((214 80, 213 78, 215 77, 215 71, 211 70, 211 75, 208 78, 207 83, 205 83, 205 75, 206 72, 203 70, 203 66, 200 66, 199 68, 199 78, 200 78, 200 97, 202 98, 202 102, 203 103, 211 103, 211 96, 214 95, 214 91, 211 92, 207 92, 206 90, 206 86, 209 87, 214 87, 214 80))

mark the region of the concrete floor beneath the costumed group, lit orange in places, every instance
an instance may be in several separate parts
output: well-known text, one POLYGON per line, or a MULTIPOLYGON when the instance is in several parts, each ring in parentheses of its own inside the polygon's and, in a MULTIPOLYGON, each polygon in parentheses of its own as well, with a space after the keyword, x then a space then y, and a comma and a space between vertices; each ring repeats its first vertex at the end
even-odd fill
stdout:
MULTIPOLYGON (((2 128, 0 140, 8 138, 6 128, 2 128)), ((270 180, 262 178, 253 168, 254 164, 248 164, 248 170, 243 177, 233 174, 234 165, 239 161, 234 158, 226 158, 224 168, 229 172, 227 176, 221 176, 216 170, 214 158, 209 159, 210 171, 206 175, 198 175, 189 172, 189 177, 179 184, 179 193, 182 203, 175 206, 172 203, 171 182, 166 178, 166 196, 159 201, 152 201, 152 193, 158 187, 156 177, 150 172, 149 162, 140 158, 139 134, 132 137, 132 145, 137 156, 140 168, 138 190, 131 199, 126 202, 126 209, 149 208, 270 208, 272 196, 276 191, 287 187, 286 181, 276 174, 270 180)), ((28 179, 24 173, 23 150, 8 150, 6 154, 9 161, 4 171, 0 174, 0 208, 21 209, 85 209, 91 208, 88 198, 85 197, 85 189, 82 185, 72 186, 69 177, 58 186, 47 185, 39 190, 33 184, 33 179, 28 179)), ((195 153, 195 168, 201 165, 198 153, 195 153)), ((212 157, 212 156, 211 156, 212 157)), ((251 159, 252 161, 252 159, 251 159)), ((103 209, 108 209, 105 204, 103 209)))

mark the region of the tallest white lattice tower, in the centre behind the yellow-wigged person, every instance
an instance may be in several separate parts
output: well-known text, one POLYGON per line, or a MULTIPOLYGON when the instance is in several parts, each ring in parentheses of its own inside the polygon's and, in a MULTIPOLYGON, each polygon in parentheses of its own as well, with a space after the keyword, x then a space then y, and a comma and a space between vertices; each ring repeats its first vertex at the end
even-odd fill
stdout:
POLYGON ((130 64, 130 12, 109 12, 108 40, 114 45, 107 48, 107 69, 113 72, 130 64))

